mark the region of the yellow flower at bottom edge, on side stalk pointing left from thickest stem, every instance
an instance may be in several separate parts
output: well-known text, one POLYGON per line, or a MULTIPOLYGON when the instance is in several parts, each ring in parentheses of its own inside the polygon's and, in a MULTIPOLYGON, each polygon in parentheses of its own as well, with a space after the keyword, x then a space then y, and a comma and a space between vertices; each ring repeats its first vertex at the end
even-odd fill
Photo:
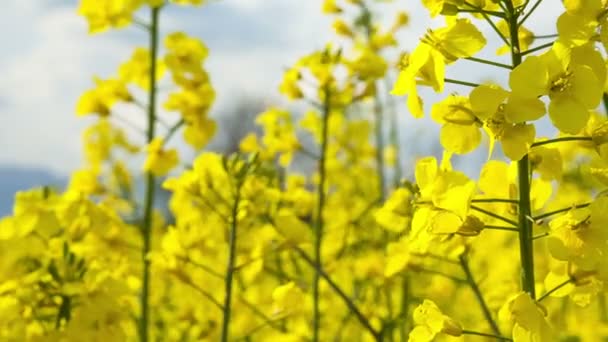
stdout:
POLYGON ((462 335, 460 323, 444 315, 437 305, 428 299, 414 310, 414 323, 416 327, 410 332, 410 342, 430 342, 440 333, 462 335))

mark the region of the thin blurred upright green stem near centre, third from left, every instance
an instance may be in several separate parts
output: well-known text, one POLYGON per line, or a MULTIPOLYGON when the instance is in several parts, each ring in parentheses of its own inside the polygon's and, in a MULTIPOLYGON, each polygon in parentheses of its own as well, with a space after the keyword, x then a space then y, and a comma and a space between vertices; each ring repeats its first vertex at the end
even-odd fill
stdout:
POLYGON ((319 280, 321 261, 321 245, 323 242, 323 209, 325 208, 325 183, 326 170, 325 163, 327 160, 327 146, 329 142, 329 114, 330 114, 330 91, 329 85, 325 86, 325 103, 323 105, 323 124, 321 133, 321 156, 319 158, 319 185, 317 188, 317 219, 314 229, 314 262, 315 272, 312 280, 312 296, 313 296, 313 342, 319 342, 319 332, 321 323, 321 312, 319 310, 319 280))

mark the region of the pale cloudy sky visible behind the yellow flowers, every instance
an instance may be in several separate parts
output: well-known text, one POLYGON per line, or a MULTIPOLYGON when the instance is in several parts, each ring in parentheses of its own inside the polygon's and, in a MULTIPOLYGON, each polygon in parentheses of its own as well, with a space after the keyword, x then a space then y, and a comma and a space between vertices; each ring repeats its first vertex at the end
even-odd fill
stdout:
MULTIPOLYGON (((74 113, 79 95, 92 87, 94 75, 113 75, 133 47, 146 45, 147 37, 134 26, 89 36, 84 18, 76 14, 76 0, 2 2, 0 166, 67 175, 82 165, 81 132, 92 122, 74 113)), ((427 27, 441 25, 441 19, 428 17, 419 1, 378 2, 376 11, 385 21, 392 21, 397 9, 410 13, 410 27, 398 37, 400 50, 413 49, 427 27)), ((545 3, 551 4, 541 5, 539 15, 530 20, 539 34, 554 33, 551 20, 562 11, 559 2, 545 3)), ((283 101, 277 92, 282 70, 299 56, 322 48, 328 39, 335 40, 331 22, 321 14, 321 0, 210 0, 200 8, 170 6, 163 13, 161 29, 165 34, 185 31, 209 47, 205 63, 218 93, 212 115, 219 115, 239 96, 283 101)), ((479 26, 491 36, 488 25, 479 26)), ((490 44, 482 55, 491 56, 497 46, 490 44)), ((505 81, 494 76, 494 69, 466 61, 450 67, 448 73, 473 82, 488 77, 505 81)), ((429 96, 429 102, 439 99, 429 96)), ((143 123, 135 111, 124 114, 143 123)), ((416 132, 421 130, 437 132, 429 119, 414 121, 405 112, 399 115, 400 125, 409 132, 404 139, 419 139, 416 132)))

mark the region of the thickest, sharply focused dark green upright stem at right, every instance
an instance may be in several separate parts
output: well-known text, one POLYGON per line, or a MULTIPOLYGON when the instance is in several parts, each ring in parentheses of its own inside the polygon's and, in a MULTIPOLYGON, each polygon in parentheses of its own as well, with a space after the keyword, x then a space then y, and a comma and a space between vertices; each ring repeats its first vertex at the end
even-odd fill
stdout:
MULTIPOLYGON (((513 68, 521 64, 522 55, 519 47, 518 14, 512 0, 505 1, 507 6, 507 21, 511 36, 511 60, 513 68)), ((522 289, 528 292, 532 299, 536 298, 534 280, 534 245, 532 244, 532 208, 530 205, 530 160, 525 155, 517 162, 517 178, 519 183, 519 255, 521 261, 522 289)))

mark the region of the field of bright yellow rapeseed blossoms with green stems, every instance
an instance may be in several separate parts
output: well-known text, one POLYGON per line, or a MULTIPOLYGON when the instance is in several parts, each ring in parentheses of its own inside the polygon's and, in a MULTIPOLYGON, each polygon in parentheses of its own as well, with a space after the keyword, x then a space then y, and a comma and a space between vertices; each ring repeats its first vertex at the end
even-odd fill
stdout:
POLYGON ((233 153, 213 49, 162 26, 214 1, 73 4, 145 39, 73 99, 82 167, 0 218, 0 341, 608 341, 608 1, 299 0, 339 39, 265 66, 290 105, 233 153))

